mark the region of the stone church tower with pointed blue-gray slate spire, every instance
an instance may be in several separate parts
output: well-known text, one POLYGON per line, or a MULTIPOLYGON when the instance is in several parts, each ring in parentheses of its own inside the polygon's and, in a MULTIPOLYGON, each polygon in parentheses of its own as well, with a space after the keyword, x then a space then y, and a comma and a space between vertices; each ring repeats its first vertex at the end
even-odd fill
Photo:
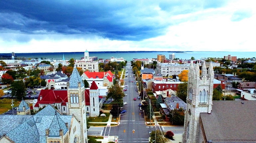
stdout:
POLYGON ((80 122, 81 135, 79 143, 88 142, 84 98, 84 84, 79 72, 74 67, 70 80, 67 82, 67 104, 69 115, 74 115, 80 122))

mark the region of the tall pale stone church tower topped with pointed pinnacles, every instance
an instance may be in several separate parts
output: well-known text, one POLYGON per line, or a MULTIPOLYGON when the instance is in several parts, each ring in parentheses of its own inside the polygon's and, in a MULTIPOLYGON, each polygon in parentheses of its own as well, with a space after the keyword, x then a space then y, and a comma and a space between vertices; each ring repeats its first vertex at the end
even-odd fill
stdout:
POLYGON ((201 71, 200 76, 199 65, 190 64, 183 143, 198 142, 200 113, 211 113, 214 78, 212 64, 210 63, 207 73, 204 62, 201 71))

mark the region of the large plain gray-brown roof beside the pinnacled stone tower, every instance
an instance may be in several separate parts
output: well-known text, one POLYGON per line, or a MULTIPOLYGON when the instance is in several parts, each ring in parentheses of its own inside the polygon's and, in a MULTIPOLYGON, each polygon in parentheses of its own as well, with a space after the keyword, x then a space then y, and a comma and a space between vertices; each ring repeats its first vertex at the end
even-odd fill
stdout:
POLYGON ((255 100, 213 101, 210 114, 200 113, 206 139, 213 143, 255 143, 255 113, 255 100))

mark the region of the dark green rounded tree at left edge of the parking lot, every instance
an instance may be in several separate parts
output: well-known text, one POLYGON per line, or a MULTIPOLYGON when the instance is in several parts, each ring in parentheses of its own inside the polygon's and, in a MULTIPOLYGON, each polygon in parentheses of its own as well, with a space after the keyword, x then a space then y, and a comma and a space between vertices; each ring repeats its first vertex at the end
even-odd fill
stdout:
POLYGON ((21 100, 23 97, 26 97, 26 87, 23 81, 15 81, 12 84, 12 97, 16 97, 21 100))

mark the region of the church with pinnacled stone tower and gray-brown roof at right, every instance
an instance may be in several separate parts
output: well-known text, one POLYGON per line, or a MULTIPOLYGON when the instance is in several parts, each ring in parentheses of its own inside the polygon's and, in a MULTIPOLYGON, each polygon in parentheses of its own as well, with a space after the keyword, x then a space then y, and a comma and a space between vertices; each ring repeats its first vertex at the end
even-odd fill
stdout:
POLYGON ((210 62, 191 64, 183 143, 255 143, 256 101, 212 101, 214 71, 210 62))

